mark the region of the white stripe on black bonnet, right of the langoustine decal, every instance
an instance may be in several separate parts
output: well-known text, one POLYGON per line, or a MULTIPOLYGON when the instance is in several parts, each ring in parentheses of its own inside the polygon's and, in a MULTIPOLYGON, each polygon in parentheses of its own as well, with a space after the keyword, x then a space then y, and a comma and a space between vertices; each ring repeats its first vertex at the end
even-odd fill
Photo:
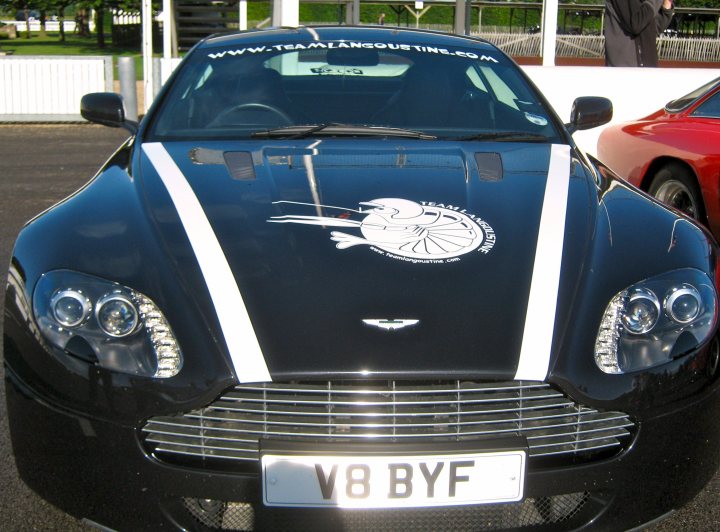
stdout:
POLYGON ((515 373, 517 380, 542 381, 547 377, 560 286, 569 187, 570 146, 554 144, 550 151, 525 330, 515 373))

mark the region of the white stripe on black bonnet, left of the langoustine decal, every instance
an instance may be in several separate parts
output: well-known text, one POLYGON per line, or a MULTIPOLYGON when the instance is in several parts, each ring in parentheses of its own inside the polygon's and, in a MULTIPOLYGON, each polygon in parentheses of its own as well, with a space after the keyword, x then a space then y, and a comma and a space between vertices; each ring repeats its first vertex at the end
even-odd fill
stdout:
POLYGON ((190 239, 240 382, 271 381, 250 316, 215 231, 180 168, 159 142, 143 144, 190 239))

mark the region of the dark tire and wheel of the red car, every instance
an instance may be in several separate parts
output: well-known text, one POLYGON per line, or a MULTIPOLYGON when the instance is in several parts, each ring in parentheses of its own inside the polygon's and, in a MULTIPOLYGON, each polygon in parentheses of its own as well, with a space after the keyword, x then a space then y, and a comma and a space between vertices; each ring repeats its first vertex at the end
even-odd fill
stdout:
POLYGON ((693 173, 679 163, 668 163, 655 173, 648 192, 657 200, 706 224, 705 204, 693 173))

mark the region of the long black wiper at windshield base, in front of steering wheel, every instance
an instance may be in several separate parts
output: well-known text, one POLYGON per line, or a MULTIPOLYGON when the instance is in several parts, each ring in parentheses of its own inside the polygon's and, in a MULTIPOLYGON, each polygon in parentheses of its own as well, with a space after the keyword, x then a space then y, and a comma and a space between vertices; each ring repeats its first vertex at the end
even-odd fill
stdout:
POLYGON ((311 124, 302 126, 285 126, 266 131, 257 131, 251 135, 257 139, 304 139, 314 135, 327 135, 331 137, 405 137, 411 139, 433 140, 434 135, 384 126, 363 126, 355 124, 338 124, 328 122, 326 124, 311 124))

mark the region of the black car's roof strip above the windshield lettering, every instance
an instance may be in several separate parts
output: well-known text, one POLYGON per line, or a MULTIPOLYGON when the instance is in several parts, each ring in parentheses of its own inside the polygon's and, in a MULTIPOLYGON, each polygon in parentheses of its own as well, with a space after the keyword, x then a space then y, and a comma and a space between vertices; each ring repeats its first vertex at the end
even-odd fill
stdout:
POLYGON ((475 37, 459 36, 438 31, 393 28, 388 26, 300 26, 297 28, 269 28, 236 33, 211 35, 201 43, 202 48, 244 46, 273 42, 312 41, 373 41, 431 46, 472 46, 488 52, 499 49, 475 37))

